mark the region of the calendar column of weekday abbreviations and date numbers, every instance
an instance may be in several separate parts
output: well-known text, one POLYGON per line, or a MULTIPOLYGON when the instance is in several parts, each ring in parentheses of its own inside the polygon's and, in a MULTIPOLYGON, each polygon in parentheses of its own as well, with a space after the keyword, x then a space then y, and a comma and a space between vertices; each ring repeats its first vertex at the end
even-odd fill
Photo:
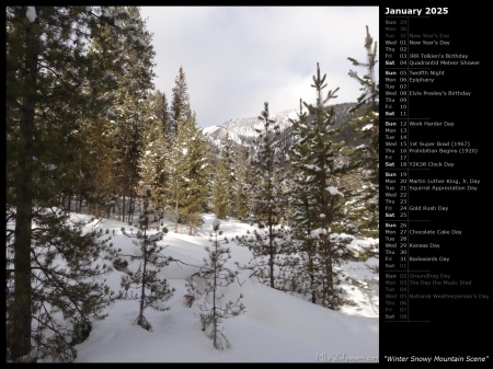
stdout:
POLYGON ((408 20, 386 19, 383 84, 385 319, 408 320, 408 20))

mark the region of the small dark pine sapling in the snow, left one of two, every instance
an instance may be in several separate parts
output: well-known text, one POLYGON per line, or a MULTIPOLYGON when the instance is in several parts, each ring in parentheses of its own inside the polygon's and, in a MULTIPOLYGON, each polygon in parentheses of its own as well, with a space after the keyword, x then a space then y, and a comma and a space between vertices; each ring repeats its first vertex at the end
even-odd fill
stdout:
MULTIPOLYGON (((152 325, 144 315, 144 310, 149 307, 158 311, 169 310, 169 307, 165 307, 163 303, 174 292, 174 288, 169 287, 168 280, 159 277, 161 269, 170 264, 170 258, 160 254, 164 247, 158 246, 157 242, 162 240, 168 230, 163 229, 161 232, 151 232, 150 217, 152 216, 152 206, 149 204, 150 197, 151 187, 146 186, 144 209, 140 214, 137 233, 127 233, 123 230, 124 234, 134 238, 134 243, 139 247, 141 254, 137 256, 140 260, 137 272, 130 272, 128 275, 122 277, 124 298, 139 301, 139 314, 136 323, 147 331, 151 331, 152 325), (133 286, 136 286, 137 291, 131 290, 133 286)), ((118 264, 122 264, 122 262, 121 257, 116 260, 118 264)))

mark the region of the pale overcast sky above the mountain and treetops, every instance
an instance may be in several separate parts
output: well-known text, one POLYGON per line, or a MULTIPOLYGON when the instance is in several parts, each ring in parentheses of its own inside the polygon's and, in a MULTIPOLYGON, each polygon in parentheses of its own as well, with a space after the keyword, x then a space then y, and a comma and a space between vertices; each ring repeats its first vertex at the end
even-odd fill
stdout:
POLYGON ((317 62, 325 94, 340 88, 332 103, 356 101, 347 57, 366 61, 366 25, 379 36, 378 7, 141 7, 141 16, 153 33, 156 89, 171 103, 182 66, 200 127, 255 117, 264 102, 271 114, 313 103, 317 62))

